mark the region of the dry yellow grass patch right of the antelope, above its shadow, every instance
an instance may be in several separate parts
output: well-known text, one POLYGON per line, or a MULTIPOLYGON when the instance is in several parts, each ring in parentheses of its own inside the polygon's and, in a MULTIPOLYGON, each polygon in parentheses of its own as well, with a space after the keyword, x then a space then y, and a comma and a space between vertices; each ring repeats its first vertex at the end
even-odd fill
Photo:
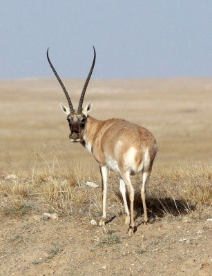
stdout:
POLYGON ((160 179, 160 197, 181 198, 194 206, 211 205, 212 170, 202 163, 156 170, 153 179, 160 179))

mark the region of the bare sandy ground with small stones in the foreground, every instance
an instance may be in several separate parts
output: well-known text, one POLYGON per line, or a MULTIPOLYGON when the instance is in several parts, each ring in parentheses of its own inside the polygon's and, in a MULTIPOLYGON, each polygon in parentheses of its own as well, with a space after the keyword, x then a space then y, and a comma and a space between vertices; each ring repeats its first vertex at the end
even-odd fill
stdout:
POLYGON ((155 221, 128 238, 114 219, 108 229, 120 243, 99 245, 100 229, 87 216, 4 219, 0 275, 210 275, 210 224, 155 221))

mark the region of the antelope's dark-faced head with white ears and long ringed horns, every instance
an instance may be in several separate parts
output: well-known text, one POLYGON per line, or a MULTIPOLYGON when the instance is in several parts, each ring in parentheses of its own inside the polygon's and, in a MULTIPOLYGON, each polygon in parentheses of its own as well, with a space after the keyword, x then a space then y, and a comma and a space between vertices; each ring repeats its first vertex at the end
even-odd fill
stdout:
POLYGON ((57 80, 59 81, 59 84, 61 85, 61 88, 64 90, 64 93, 66 95, 66 99, 68 101, 68 106, 69 107, 64 106, 63 103, 60 103, 60 106, 61 106, 61 110, 67 116, 67 120, 68 120, 68 124, 69 124, 69 128, 70 128, 69 139, 72 142, 83 142, 84 132, 85 132, 85 128, 86 128, 86 119, 87 119, 88 113, 90 112, 90 110, 92 108, 91 101, 84 108, 82 107, 82 105, 83 105, 83 101, 84 101, 84 96, 86 94, 86 88, 88 86, 88 83, 90 81, 90 77, 91 77, 92 72, 93 72, 93 68, 95 66, 96 52, 95 52, 94 47, 93 47, 93 50, 94 50, 93 63, 92 63, 92 66, 90 68, 90 72, 88 74, 86 82, 84 84, 84 88, 81 92, 81 97, 79 99, 79 106, 78 106, 77 110, 75 110, 73 108, 73 104, 70 100, 68 92, 66 91, 64 83, 62 83, 59 75, 57 74, 57 72, 55 70, 55 68, 52 66, 52 63, 51 63, 51 61, 48 57, 48 50, 47 50, 47 53, 46 53, 48 63, 50 64, 50 67, 52 68, 52 71, 55 73, 55 76, 57 77, 57 80))

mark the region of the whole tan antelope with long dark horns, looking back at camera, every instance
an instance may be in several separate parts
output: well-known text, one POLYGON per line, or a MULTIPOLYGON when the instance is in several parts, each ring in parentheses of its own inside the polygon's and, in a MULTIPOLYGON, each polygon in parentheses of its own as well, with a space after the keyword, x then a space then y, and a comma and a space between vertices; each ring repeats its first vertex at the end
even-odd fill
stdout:
POLYGON ((84 84, 79 99, 78 109, 73 108, 68 92, 62 83, 55 68, 52 66, 50 58, 47 59, 52 71, 55 73, 61 88, 64 90, 68 107, 60 103, 61 110, 66 114, 70 134, 70 141, 79 142, 90 152, 99 164, 102 175, 102 217, 99 226, 104 226, 106 222, 106 193, 108 170, 119 173, 119 191, 122 194, 124 208, 126 212, 125 224, 129 224, 128 235, 135 232, 133 201, 134 188, 131 183, 131 175, 142 173, 141 197, 144 207, 144 224, 148 222, 146 210, 146 189, 145 184, 151 175, 153 161, 157 153, 157 143, 155 138, 146 128, 130 123, 124 119, 106 119, 100 121, 90 117, 88 113, 92 108, 90 101, 87 106, 82 107, 86 88, 95 66, 96 52, 94 50, 93 63, 84 84), (126 201, 126 187, 130 199, 130 212, 126 201))

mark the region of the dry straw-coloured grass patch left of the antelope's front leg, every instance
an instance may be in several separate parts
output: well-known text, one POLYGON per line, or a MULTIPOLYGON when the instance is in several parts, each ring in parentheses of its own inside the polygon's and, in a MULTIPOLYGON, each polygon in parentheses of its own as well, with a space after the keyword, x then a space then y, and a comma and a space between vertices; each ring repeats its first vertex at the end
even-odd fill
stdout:
POLYGON ((85 182, 95 179, 93 169, 79 166, 60 168, 58 161, 57 166, 52 161, 41 167, 36 166, 36 161, 31 172, 19 171, 18 179, 2 178, 0 195, 10 196, 15 208, 21 206, 18 196, 38 199, 58 213, 70 214, 73 206, 74 210, 81 210, 90 194, 85 182))

